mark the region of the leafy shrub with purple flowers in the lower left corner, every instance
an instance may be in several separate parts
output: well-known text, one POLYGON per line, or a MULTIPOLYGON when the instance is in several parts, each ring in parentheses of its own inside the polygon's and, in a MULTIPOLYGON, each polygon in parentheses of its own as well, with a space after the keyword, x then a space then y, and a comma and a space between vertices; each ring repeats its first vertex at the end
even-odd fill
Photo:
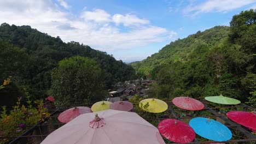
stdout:
MULTIPOLYGON (((26 91, 26 89, 25 89, 26 91)), ((0 115, 0 137, 19 136, 28 128, 26 125, 34 125, 44 118, 49 117, 47 109, 43 106, 43 100, 31 101, 28 92, 26 94, 26 103, 28 106, 21 105, 22 97, 18 98, 18 102, 8 113, 5 106, 0 115), (34 107, 33 105, 36 105, 34 107)), ((8 139, 0 139, 0 143, 8 143, 8 139)))

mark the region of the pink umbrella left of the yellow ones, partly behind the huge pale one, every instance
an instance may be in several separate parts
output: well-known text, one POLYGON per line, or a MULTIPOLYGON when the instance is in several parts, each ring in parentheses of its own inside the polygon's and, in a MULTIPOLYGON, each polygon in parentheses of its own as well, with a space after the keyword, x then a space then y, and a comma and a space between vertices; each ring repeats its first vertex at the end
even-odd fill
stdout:
POLYGON ((89 113, 89 112, 91 112, 90 107, 86 107, 86 106, 73 107, 71 109, 61 112, 61 114, 58 116, 58 120, 62 123, 68 123, 75 117, 78 117, 83 113, 89 113))

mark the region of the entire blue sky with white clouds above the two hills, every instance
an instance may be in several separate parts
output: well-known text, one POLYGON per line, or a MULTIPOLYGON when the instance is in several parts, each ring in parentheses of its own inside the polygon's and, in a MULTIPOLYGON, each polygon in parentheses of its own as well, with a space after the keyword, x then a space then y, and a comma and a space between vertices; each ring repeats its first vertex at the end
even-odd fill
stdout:
POLYGON ((256 0, 0 0, 0 23, 29 25, 117 60, 142 61, 171 41, 256 9, 256 0))

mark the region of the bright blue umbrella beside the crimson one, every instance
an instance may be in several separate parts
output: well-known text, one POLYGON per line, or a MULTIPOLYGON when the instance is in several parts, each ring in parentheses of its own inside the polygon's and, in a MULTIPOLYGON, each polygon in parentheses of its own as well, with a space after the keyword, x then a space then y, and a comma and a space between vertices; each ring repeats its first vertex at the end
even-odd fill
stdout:
POLYGON ((196 134, 213 141, 227 141, 232 137, 231 131, 224 124, 210 118, 196 117, 189 121, 196 134))

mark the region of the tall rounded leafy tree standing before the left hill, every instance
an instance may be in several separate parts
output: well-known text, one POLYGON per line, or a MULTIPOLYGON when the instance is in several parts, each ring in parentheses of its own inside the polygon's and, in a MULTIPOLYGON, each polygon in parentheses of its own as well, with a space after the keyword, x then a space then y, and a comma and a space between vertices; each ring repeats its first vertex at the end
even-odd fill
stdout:
POLYGON ((102 100, 102 70, 94 59, 75 56, 63 59, 52 74, 57 104, 86 104, 102 100))

